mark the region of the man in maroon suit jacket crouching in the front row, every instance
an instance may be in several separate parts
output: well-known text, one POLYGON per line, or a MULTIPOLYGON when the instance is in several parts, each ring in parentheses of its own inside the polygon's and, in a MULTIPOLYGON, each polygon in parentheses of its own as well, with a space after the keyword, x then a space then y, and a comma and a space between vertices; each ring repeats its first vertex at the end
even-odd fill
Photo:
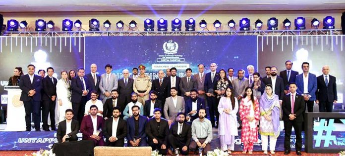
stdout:
POLYGON ((103 117, 97 116, 97 111, 96 105, 90 107, 90 115, 83 117, 81 121, 80 132, 83 134, 83 140, 92 140, 95 146, 104 146, 103 133, 101 131, 103 128, 103 117))

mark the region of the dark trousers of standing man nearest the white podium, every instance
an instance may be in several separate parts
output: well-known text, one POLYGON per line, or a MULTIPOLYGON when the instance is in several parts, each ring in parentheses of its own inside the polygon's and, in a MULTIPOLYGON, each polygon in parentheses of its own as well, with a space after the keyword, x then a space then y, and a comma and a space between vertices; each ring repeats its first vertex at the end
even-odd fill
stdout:
POLYGON ((35 129, 40 130, 40 122, 41 122, 40 105, 41 105, 41 101, 34 101, 33 99, 31 99, 30 101, 24 102, 25 122, 26 122, 27 131, 31 130, 31 113, 33 113, 35 129))

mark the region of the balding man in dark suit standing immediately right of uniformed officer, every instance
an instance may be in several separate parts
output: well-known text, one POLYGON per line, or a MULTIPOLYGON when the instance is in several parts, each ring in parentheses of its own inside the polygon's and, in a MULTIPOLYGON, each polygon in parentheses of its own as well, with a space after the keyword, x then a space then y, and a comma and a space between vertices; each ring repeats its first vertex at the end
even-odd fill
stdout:
POLYGON ((160 70, 158 72, 158 78, 152 81, 151 90, 156 91, 157 99, 165 103, 165 99, 168 97, 168 82, 164 79, 164 72, 160 70))

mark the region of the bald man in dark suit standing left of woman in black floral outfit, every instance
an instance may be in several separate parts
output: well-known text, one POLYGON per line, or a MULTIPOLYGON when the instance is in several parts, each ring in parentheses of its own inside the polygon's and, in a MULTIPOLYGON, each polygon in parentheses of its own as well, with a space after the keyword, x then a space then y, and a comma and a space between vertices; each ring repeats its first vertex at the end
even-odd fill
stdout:
POLYGON ((207 96, 207 105, 209 108, 210 120, 212 123, 212 127, 215 127, 216 125, 215 114, 216 114, 216 111, 218 111, 216 106, 218 104, 216 104, 216 96, 213 94, 214 92, 213 86, 215 85, 215 83, 218 81, 220 77, 219 77, 219 73, 216 71, 217 70, 216 63, 211 63, 210 70, 211 72, 207 73, 205 76, 204 88, 205 88, 205 92, 207 96))

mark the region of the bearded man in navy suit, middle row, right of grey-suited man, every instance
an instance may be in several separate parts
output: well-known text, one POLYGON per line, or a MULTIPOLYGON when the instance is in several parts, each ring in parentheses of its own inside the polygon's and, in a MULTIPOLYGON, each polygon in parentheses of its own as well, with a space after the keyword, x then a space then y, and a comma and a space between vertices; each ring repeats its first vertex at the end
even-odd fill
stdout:
POLYGON ((186 101, 186 120, 191 123, 194 119, 198 118, 200 108, 206 109, 205 100, 198 97, 198 91, 196 89, 192 89, 190 91, 190 98, 186 101))

